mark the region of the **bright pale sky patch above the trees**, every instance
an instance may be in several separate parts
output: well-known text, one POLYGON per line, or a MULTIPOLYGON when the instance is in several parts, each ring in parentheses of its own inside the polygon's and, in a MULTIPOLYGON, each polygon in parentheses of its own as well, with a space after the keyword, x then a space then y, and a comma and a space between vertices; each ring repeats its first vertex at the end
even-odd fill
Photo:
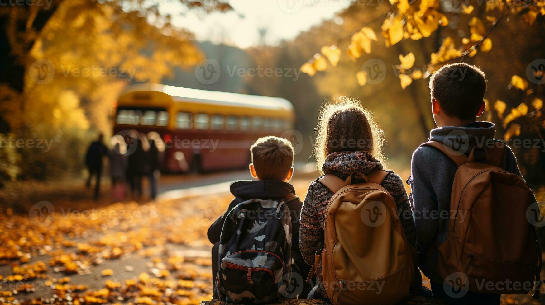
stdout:
POLYGON ((171 13, 172 23, 189 29, 198 40, 244 48, 259 43, 259 28, 267 29, 265 42, 274 45, 282 39, 295 38, 299 32, 324 19, 331 19, 349 3, 350 0, 231 0, 233 11, 228 13, 207 15, 190 11, 178 16, 174 12, 181 8, 165 2, 160 10, 171 13))

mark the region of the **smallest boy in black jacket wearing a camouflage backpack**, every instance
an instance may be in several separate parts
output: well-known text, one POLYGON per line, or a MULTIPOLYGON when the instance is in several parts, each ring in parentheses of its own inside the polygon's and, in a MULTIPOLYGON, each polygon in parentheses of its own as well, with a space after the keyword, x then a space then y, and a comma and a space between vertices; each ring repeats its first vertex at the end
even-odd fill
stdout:
POLYGON ((308 294, 310 272, 299 250, 302 203, 288 183, 292 144, 260 138, 250 148, 256 180, 231 184, 235 197, 208 229, 214 298, 228 303, 264 303, 308 294))

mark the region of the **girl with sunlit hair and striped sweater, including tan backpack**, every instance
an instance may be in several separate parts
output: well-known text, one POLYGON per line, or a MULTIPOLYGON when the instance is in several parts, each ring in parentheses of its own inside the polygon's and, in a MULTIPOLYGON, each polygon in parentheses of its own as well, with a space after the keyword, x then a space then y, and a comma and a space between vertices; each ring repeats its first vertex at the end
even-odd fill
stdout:
POLYGON ((384 170, 383 131, 358 100, 320 112, 314 155, 325 174, 308 187, 299 247, 316 272, 309 298, 393 304, 421 292, 407 192, 384 170))

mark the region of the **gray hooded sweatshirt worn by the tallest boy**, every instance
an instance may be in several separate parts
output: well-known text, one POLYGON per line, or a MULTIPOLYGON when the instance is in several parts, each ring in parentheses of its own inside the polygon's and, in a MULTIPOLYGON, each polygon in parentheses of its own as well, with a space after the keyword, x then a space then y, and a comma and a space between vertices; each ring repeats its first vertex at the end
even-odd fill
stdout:
MULTIPOLYGON (((428 141, 441 142, 455 151, 470 154, 476 145, 492 145, 495 126, 487 121, 477 121, 464 127, 446 126, 433 129, 428 141), (492 143, 492 144, 490 144, 492 143)), ((522 178, 517 166, 517 159, 510 147, 505 147, 501 167, 522 178)), ((438 282, 432 270, 437 253, 427 258, 429 248, 446 239, 449 224, 450 195, 454 176, 458 167, 443 152, 433 147, 420 147, 413 153, 411 176, 407 184, 411 187, 411 203, 416 229, 419 266, 432 282, 438 282), (429 260, 429 261, 428 261, 429 260)), ((439 283, 443 283, 442 280, 439 283)))

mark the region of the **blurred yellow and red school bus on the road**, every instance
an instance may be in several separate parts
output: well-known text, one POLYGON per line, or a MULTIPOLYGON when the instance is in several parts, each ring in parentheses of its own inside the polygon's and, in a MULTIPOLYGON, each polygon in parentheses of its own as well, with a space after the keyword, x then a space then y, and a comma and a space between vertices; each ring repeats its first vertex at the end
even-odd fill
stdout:
POLYGON ((160 135, 167 172, 246 167, 256 139, 281 136, 295 119, 292 103, 280 97, 148 83, 127 87, 114 113, 114 134, 160 135))

